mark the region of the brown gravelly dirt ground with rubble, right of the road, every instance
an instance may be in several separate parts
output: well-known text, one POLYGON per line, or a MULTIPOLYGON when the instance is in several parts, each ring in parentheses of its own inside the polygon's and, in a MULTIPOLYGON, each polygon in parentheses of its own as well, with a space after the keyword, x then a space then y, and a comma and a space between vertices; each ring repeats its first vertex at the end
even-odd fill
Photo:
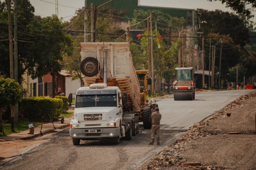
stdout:
POLYGON ((143 169, 256 169, 256 92, 240 97, 180 135, 143 169), (231 113, 228 117, 226 114, 231 113), (228 134, 240 132, 240 134, 228 134), (198 162, 201 166, 182 163, 198 162))

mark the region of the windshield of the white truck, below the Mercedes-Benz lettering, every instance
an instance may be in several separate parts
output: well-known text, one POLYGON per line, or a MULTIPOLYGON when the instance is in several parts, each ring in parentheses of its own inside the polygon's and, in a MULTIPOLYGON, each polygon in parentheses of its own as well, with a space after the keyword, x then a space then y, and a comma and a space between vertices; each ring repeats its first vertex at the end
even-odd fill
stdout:
POLYGON ((117 107, 117 97, 108 95, 77 95, 76 108, 83 107, 117 107))

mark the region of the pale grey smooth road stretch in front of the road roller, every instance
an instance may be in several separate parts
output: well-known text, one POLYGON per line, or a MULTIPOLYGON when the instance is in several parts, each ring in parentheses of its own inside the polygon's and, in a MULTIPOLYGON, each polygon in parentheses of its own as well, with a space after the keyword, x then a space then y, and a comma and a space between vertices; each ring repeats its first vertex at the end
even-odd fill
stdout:
POLYGON ((227 106, 230 102, 253 90, 225 90, 200 92, 193 101, 157 101, 162 114, 161 128, 184 130, 227 106))

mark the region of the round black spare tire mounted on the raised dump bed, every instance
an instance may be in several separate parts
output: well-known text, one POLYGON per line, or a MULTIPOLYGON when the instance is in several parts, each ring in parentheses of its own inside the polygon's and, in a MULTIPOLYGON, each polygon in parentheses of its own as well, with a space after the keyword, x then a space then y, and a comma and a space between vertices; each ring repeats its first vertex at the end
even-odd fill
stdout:
POLYGON ((80 64, 80 70, 86 77, 93 77, 99 72, 99 61, 94 57, 83 59, 80 64))

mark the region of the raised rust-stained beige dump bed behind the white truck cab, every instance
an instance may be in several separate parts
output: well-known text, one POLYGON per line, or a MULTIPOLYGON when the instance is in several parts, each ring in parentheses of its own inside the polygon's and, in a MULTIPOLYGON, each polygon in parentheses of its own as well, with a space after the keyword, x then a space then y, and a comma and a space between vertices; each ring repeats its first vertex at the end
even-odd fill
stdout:
POLYGON ((127 93, 126 107, 140 112, 140 85, 128 42, 81 42, 80 70, 85 86, 103 83, 105 73, 107 86, 118 86, 122 93, 127 93))

